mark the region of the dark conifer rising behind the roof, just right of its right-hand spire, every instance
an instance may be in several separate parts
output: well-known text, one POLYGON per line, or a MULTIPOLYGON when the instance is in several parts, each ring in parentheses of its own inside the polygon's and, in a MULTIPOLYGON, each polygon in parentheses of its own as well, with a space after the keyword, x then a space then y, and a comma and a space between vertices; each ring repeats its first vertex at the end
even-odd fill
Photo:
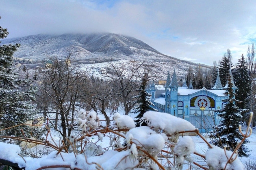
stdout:
MULTIPOLYGON (((228 51, 228 54, 228 56, 230 56, 230 51, 228 51)), ((233 67, 233 64, 231 64, 230 61, 232 57, 228 56, 225 53, 224 56, 222 57, 222 60, 219 62, 219 78, 221 79, 221 85, 223 87, 226 85, 228 81, 229 70, 233 67)))

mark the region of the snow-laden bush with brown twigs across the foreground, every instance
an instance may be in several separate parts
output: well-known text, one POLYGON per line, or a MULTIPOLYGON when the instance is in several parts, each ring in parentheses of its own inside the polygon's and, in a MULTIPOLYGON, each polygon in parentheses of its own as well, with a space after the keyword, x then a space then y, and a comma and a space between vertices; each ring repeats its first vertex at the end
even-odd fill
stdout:
POLYGON ((109 127, 99 126, 95 112, 80 110, 77 116, 80 133, 73 133, 69 144, 59 146, 56 142, 41 141, 56 151, 41 158, 32 158, 20 157, 17 145, 0 143, 0 158, 17 163, 26 170, 244 169, 237 152, 212 146, 206 140, 210 149, 205 155, 197 153, 192 138, 180 134, 189 131, 203 138, 202 135, 188 121, 167 113, 146 112, 142 119, 148 121, 148 127, 135 127, 131 117, 119 113, 115 113, 114 123, 109 127), (15 150, 10 153, 11 149, 15 150), (196 163, 192 154, 202 157, 207 166, 196 163))

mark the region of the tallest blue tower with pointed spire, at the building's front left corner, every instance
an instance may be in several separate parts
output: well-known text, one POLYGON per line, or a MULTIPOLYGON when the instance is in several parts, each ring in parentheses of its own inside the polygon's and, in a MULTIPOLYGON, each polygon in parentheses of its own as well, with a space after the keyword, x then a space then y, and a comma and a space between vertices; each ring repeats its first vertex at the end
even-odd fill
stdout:
POLYGON ((171 84, 169 85, 170 89, 170 108, 171 108, 171 115, 178 115, 178 81, 176 78, 176 72, 174 69, 174 74, 171 79, 171 84))

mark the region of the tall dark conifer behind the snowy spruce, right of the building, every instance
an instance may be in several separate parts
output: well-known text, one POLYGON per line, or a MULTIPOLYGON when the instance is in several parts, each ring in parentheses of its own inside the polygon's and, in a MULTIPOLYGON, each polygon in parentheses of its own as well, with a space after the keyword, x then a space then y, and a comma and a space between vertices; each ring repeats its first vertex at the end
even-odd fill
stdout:
POLYGON ((238 88, 236 91, 236 99, 243 101, 241 103, 238 103, 237 106, 239 108, 245 108, 244 101, 251 94, 251 80, 248 73, 247 62, 245 61, 243 54, 238 60, 238 64, 236 64, 233 75, 234 83, 238 88))

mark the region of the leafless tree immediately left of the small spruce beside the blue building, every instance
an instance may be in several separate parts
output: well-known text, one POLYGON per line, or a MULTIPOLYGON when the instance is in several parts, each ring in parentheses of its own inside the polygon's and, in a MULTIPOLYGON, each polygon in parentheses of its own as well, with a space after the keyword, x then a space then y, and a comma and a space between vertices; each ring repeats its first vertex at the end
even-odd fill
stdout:
POLYGON ((115 91, 116 95, 123 100, 126 115, 128 115, 130 110, 136 104, 136 99, 133 98, 134 94, 137 93, 135 90, 138 87, 139 81, 136 75, 139 72, 139 68, 144 64, 144 62, 131 62, 132 66, 129 68, 127 65, 117 66, 111 61, 109 66, 113 74, 110 72, 105 73, 108 81, 113 84, 113 91, 115 91))

